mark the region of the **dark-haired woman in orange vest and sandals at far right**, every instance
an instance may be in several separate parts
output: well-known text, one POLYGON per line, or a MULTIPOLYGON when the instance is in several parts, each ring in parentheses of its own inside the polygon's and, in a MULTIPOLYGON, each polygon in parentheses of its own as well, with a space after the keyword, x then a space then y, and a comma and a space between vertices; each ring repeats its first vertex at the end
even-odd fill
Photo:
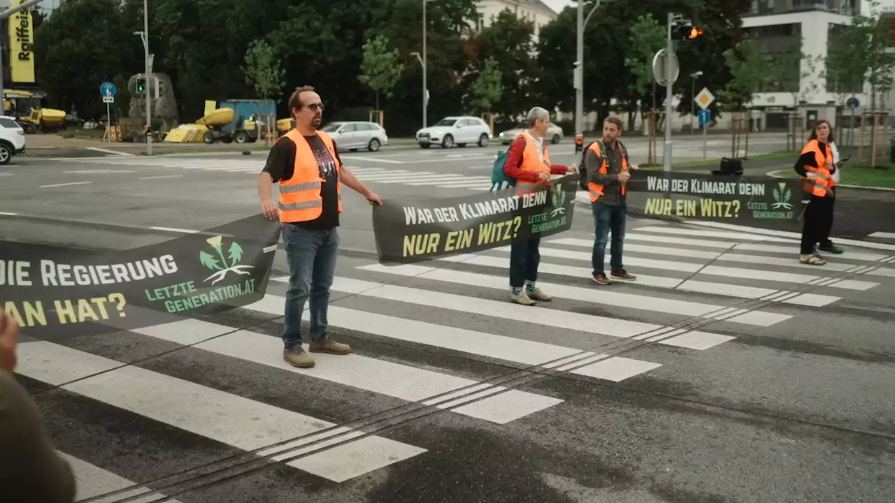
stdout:
POLYGON ((826 260, 814 255, 814 246, 818 243, 824 252, 842 252, 830 241, 833 202, 836 199, 833 188, 836 182, 832 176, 836 171, 830 147, 832 141, 830 122, 826 119, 817 121, 795 166, 796 172, 802 177, 805 192, 811 194, 808 207, 805 209, 798 261, 812 266, 823 266, 827 263, 826 260))

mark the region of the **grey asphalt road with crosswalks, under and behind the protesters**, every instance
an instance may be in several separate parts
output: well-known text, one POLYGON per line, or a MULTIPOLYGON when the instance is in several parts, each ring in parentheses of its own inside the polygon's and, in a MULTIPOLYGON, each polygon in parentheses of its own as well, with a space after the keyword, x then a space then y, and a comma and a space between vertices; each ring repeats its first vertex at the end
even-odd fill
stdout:
MULTIPOLYGON (((496 150, 343 159, 385 199, 444 198, 487 190, 496 150)), ((264 157, 15 162, 0 169, 2 239, 125 250, 258 211, 264 157)), ((52 344, 26 331, 19 376, 79 499, 891 501, 895 240, 843 236, 846 254, 812 268, 790 234, 631 218, 638 280, 600 287, 582 207, 541 244, 553 302, 523 308, 507 303, 506 251, 383 267, 370 207, 343 197, 329 322, 352 356, 281 361, 282 251, 264 301, 205 323, 52 344), (287 441, 284 460, 270 446, 287 441)))

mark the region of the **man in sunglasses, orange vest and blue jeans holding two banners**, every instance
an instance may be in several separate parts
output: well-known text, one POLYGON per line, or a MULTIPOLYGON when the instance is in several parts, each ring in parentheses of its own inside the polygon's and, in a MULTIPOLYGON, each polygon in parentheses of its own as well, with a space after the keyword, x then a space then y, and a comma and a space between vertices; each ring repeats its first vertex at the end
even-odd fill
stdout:
POLYGON ((382 204, 375 192, 342 165, 336 142, 318 131, 323 104, 314 88, 298 88, 289 98, 295 129, 281 136, 270 149, 267 166, 258 180, 261 212, 279 218, 289 262, 289 289, 283 324, 283 359, 300 368, 314 366, 302 346, 302 312, 309 302, 311 353, 348 354, 351 348, 327 334, 329 287, 336 272, 342 183, 370 204, 382 204), (279 183, 279 200, 270 195, 279 183))

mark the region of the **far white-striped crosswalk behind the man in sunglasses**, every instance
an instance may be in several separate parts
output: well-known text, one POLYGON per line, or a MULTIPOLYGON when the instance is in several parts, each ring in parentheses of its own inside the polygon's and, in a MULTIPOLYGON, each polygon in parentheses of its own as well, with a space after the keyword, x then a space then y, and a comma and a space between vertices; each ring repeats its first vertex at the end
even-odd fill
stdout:
MULTIPOLYGON (((371 156, 342 157, 345 161, 362 159, 373 161, 371 156)), ((384 161, 387 159, 379 159, 384 161)), ((456 159, 451 159, 456 160, 456 159)), ((264 168, 265 158, 201 158, 201 157, 176 157, 165 156, 160 158, 76 158, 66 159, 66 164, 90 164, 103 166, 127 167, 131 169, 84 169, 70 170, 67 173, 78 175, 112 175, 140 172, 145 174, 147 169, 176 168, 187 172, 209 171, 214 173, 246 173, 258 174, 264 168)), ((424 164, 430 163, 430 160, 424 164)), ((405 163, 398 163, 405 164, 405 163)), ((439 173, 438 171, 422 171, 419 169, 388 168, 383 166, 351 166, 354 175, 363 183, 389 183, 409 185, 413 187, 439 187, 449 189, 466 189, 472 191, 487 191, 490 188, 490 175, 465 175, 456 173, 439 173)), ((154 177, 153 177, 154 178, 154 177)), ((144 177, 145 179, 145 177, 144 177)))

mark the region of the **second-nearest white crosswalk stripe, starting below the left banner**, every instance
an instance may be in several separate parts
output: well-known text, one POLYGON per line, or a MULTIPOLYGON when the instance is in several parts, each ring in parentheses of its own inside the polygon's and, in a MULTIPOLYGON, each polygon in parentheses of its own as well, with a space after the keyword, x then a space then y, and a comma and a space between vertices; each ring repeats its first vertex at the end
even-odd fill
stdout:
MULTIPOLYGON (((261 337, 280 346, 275 353, 282 350, 282 343, 276 337, 261 337)), ((266 356, 271 360, 269 353, 266 356)), ((337 426, 46 341, 19 345, 18 357, 16 372, 23 376, 245 451, 269 448, 337 426), (47 362, 53 364, 47 365, 47 362)), ((286 362, 283 364, 289 366, 286 362)), ((423 448, 376 436, 361 442, 324 450, 287 465, 333 482, 344 482, 426 452, 423 448)))

